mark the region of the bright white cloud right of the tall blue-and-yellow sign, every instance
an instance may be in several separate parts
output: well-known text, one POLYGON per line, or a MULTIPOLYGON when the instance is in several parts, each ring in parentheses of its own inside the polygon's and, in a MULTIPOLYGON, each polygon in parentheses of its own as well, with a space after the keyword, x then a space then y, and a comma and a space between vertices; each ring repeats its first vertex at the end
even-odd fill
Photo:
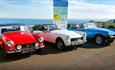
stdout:
POLYGON ((84 0, 70 0, 69 18, 115 18, 115 6, 88 3, 84 0))

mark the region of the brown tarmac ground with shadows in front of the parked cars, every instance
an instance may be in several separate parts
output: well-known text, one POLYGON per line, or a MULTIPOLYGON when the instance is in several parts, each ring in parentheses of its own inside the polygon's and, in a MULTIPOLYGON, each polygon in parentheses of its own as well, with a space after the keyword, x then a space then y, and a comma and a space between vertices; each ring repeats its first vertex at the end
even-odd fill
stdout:
POLYGON ((40 54, 0 59, 0 70, 115 70, 115 42, 110 46, 86 43, 59 51, 47 44, 40 54))

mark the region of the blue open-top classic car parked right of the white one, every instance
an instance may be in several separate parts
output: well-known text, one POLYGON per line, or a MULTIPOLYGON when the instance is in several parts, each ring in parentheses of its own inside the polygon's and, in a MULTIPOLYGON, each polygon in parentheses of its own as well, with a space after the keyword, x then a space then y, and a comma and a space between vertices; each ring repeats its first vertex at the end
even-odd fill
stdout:
POLYGON ((87 33, 87 40, 94 41, 97 45, 112 43, 115 39, 115 32, 105 28, 99 28, 95 23, 69 24, 68 30, 83 31, 87 33))

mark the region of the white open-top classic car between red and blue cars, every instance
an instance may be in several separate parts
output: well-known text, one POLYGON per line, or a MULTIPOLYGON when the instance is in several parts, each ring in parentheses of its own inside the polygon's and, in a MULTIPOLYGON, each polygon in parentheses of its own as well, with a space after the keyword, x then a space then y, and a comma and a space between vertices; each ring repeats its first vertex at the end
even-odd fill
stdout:
POLYGON ((33 26, 33 32, 42 35, 45 41, 55 43, 58 49, 67 46, 82 45, 86 40, 85 32, 74 32, 67 29, 57 29, 54 24, 40 24, 33 26))

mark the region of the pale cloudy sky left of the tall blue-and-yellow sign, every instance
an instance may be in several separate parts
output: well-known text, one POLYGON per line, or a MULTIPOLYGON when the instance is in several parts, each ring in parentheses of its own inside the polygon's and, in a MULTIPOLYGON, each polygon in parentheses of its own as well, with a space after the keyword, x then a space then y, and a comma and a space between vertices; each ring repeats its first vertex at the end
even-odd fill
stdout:
POLYGON ((11 1, 0 1, 1 18, 53 18, 53 2, 51 0, 24 0, 22 2, 19 2, 21 0, 11 1))

